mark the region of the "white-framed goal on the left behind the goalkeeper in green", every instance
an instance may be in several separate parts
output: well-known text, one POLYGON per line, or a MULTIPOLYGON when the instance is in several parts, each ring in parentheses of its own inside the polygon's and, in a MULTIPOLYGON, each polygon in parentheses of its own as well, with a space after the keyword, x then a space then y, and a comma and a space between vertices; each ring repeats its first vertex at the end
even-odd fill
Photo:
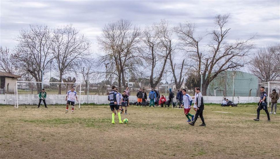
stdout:
MULTIPOLYGON (((39 93, 44 88, 46 92, 46 105, 66 105, 66 93, 74 87, 78 96, 78 102, 75 99, 75 107, 81 106, 81 83, 64 83, 64 82, 28 82, 17 81, 15 84, 15 108, 18 105, 39 105, 39 93)), ((44 102, 40 102, 44 108, 44 102)))

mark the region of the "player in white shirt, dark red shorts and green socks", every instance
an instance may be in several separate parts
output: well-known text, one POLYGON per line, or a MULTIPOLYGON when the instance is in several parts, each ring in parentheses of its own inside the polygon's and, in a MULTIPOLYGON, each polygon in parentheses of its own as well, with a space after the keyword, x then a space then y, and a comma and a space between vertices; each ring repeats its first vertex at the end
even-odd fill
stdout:
POLYGON ((188 122, 190 122, 190 121, 193 121, 193 117, 194 117, 194 115, 189 113, 191 110, 191 105, 192 105, 193 99, 191 98, 190 95, 187 94, 186 89, 182 89, 182 93, 183 93, 183 104, 181 105, 181 107, 184 106, 184 113, 185 113, 186 117, 188 118, 188 122), (189 116, 192 119, 190 119, 189 116))

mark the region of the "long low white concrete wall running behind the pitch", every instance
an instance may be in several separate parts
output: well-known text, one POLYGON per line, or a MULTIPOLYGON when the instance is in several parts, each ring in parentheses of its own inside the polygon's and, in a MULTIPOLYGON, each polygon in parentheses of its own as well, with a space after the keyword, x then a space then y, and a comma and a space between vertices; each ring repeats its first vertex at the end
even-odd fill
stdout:
MULTIPOLYGON (((253 103, 258 102, 260 97, 234 97, 234 103, 253 103)), ((79 99, 79 96, 78 96, 79 99)), ((204 96, 204 103, 221 103, 223 97, 219 96, 204 96)), ((232 101, 232 97, 227 97, 232 101)), ((168 97, 167 97, 168 100, 168 97)), ((174 98, 176 102, 176 98, 174 98)), ((38 104, 39 97, 37 94, 18 94, 18 104, 38 104)), ((108 104, 107 95, 81 95, 81 104, 83 103, 97 103, 108 104)), ((130 102, 137 101, 136 96, 130 96, 130 102)), ((65 104, 65 95, 47 95, 47 104, 65 104)), ((15 104, 15 95, 4 94, 0 95, 0 104, 15 104)))

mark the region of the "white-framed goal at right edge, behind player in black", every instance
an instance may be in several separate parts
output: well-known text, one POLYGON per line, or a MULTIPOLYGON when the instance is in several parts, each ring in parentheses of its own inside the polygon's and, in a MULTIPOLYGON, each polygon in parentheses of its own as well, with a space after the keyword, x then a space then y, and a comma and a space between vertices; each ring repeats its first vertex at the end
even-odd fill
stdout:
POLYGON ((258 87, 258 96, 260 95, 260 87, 263 86, 265 88, 265 92, 267 93, 267 105, 270 107, 271 98, 270 95, 272 90, 275 89, 278 94, 280 94, 280 82, 263 82, 259 83, 258 87))

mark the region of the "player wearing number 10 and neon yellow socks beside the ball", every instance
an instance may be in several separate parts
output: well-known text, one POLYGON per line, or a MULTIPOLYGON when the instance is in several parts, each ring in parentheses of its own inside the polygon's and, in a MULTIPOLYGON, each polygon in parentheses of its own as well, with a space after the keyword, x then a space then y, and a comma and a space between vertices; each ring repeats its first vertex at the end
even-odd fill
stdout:
POLYGON ((110 101, 110 108, 112 111, 112 124, 115 124, 115 110, 117 110, 119 123, 123 123, 121 119, 121 113, 119 112, 119 105, 117 103, 117 91, 116 86, 112 86, 112 90, 108 95, 108 101, 110 101))

